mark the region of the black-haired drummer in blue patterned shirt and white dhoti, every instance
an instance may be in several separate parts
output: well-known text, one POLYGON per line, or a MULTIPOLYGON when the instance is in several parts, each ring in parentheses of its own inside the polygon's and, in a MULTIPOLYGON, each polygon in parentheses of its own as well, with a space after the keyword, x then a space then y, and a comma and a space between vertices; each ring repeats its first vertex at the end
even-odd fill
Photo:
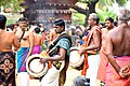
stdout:
POLYGON ((65 23, 63 19, 54 22, 55 32, 60 35, 49 46, 48 58, 41 58, 40 62, 51 61, 52 67, 41 80, 41 86, 64 86, 66 80, 66 70, 69 62, 69 48, 72 46, 70 37, 65 33, 65 23))

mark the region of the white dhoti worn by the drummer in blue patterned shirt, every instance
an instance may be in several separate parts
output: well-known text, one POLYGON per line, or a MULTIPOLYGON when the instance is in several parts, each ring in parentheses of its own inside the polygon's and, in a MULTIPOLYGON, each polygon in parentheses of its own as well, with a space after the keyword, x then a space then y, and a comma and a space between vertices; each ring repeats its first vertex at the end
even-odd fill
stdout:
POLYGON ((65 62, 62 61, 60 70, 57 70, 53 64, 52 68, 48 70, 47 74, 41 80, 41 86, 58 86, 60 72, 64 68, 65 62))

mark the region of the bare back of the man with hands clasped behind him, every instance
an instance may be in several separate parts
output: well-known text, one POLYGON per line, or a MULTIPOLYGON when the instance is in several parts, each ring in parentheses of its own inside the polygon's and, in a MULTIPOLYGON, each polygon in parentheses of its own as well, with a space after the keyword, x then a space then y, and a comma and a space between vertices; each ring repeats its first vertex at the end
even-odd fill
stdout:
POLYGON ((126 24, 113 29, 110 32, 114 56, 130 56, 130 27, 126 24))

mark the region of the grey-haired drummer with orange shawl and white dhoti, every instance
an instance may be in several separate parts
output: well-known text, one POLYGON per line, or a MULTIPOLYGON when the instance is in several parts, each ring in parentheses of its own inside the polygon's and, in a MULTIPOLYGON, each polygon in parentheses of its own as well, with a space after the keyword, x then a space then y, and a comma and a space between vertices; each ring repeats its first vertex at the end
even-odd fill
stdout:
MULTIPOLYGON (((79 54, 82 54, 86 52, 86 54, 89 55, 87 58, 89 68, 86 70, 82 69, 82 72, 84 72, 83 75, 90 78, 90 86, 96 86, 96 75, 98 75, 98 69, 100 64, 99 51, 101 47, 101 28, 98 26, 99 20, 100 18, 95 13, 91 13, 89 15, 88 23, 89 23, 89 26, 91 27, 90 33, 88 35, 88 40, 84 42, 86 44, 84 47, 81 47, 79 49, 79 54)), ((84 67, 86 66, 83 66, 83 68, 84 67)))

